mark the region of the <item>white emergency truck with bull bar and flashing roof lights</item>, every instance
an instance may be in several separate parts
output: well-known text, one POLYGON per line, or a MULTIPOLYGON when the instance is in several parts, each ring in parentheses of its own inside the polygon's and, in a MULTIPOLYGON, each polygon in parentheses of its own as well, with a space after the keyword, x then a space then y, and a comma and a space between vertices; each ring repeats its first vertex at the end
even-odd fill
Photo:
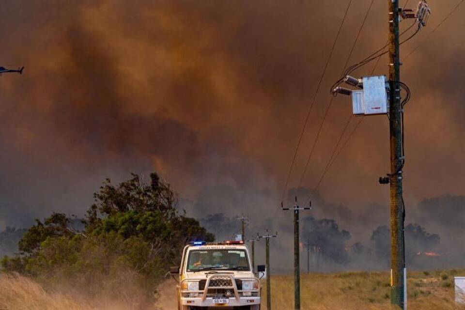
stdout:
POLYGON ((261 283, 243 241, 192 242, 170 271, 178 280, 178 310, 260 310, 261 283))

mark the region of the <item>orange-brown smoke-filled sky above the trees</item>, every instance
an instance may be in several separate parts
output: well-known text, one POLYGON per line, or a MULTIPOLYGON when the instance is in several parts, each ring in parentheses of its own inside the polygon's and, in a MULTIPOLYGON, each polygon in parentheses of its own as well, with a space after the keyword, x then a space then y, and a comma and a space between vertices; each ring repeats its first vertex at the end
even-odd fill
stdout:
MULTIPOLYGON (((2 1, 0 62, 26 69, 0 78, 0 217, 7 210, 83 213, 105 177, 150 171, 197 208, 214 195, 208 212, 272 216, 347 2, 2 1)), ((289 188, 370 2, 349 9, 289 188)), ((350 63, 386 42, 386 2, 374 2, 350 63)), ((457 1, 429 2, 429 24, 402 46, 406 55, 425 40, 402 66, 412 91, 405 114, 411 204, 463 194, 465 184, 465 7, 427 36, 457 1)), ((382 58, 375 74, 386 73, 382 58)), ((321 177, 350 114, 349 98, 338 96, 303 186, 321 177)), ((319 188, 326 201, 355 211, 387 203, 388 187, 377 183, 388 172, 387 124, 385 116, 360 124, 319 188)))

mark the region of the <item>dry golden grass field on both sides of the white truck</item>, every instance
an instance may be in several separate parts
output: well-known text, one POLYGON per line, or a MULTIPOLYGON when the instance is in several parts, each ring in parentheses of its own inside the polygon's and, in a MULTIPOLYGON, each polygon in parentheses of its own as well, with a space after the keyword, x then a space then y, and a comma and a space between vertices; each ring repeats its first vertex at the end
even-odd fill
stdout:
MULTIPOLYGON (((465 270, 414 272, 408 274, 409 310, 465 310, 454 303, 454 276, 465 270)), ((385 310, 389 306, 389 274, 346 272, 337 274, 303 274, 302 310, 385 310)), ((292 310, 294 278, 272 277, 272 309, 292 310)), ((174 280, 158 289, 156 305, 141 307, 111 300, 83 300, 73 294, 45 291, 24 277, 0 277, 0 310, 176 310, 174 280)), ((266 309, 266 287, 263 307, 266 309)))

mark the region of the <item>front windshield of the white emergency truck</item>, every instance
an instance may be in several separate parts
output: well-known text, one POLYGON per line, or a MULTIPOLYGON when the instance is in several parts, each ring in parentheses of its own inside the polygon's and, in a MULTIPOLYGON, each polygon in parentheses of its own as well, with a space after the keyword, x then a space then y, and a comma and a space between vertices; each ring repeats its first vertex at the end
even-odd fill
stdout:
POLYGON ((250 270, 247 253, 240 249, 192 250, 187 271, 250 270))

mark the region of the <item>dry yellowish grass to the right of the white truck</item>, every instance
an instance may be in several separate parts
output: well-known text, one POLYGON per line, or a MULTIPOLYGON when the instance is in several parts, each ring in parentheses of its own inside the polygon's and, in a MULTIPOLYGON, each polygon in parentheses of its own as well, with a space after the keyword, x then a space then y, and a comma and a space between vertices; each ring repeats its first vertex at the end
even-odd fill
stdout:
MULTIPOLYGON (((465 271, 415 272, 408 274, 409 310, 465 310, 454 303, 453 276, 465 271)), ((294 278, 274 276, 272 309, 292 310, 294 278)), ((263 290, 263 300, 266 300, 263 290)), ((346 272, 305 274, 301 278, 303 310, 387 310, 390 306, 388 273, 346 272)))

